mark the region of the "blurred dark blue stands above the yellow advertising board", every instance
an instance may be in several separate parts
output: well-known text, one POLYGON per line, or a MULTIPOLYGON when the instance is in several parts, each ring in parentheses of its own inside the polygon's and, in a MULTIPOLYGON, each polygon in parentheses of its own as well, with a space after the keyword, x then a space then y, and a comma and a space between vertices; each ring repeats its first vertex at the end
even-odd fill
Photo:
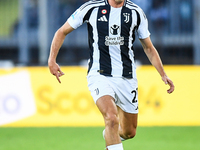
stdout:
MULTIPOLYGON (((85 1, 0 0, 1 62, 14 66, 46 65, 55 31, 85 1)), ((199 0, 133 1, 149 19, 151 37, 164 64, 200 64, 199 0)), ((60 64, 80 65, 88 58, 85 28, 86 25, 80 27, 66 38, 60 64)), ((142 64, 149 63, 138 41, 135 55, 142 64)))

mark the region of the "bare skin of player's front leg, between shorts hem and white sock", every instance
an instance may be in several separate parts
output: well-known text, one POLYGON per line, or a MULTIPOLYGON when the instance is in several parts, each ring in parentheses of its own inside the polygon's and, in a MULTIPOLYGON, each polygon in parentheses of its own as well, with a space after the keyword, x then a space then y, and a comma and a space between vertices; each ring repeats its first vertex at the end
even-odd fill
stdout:
POLYGON ((121 144, 119 137, 118 111, 114 102, 114 98, 109 95, 102 96, 97 100, 96 105, 102 113, 105 121, 106 146, 108 147, 121 144))

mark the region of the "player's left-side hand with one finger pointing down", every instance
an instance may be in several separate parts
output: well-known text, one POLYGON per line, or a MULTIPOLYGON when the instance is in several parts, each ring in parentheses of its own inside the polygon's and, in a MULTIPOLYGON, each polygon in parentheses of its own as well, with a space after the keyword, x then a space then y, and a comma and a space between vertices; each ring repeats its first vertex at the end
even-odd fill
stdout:
POLYGON ((59 83, 61 83, 60 78, 64 73, 61 71, 59 65, 56 62, 49 62, 49 70, 52 75, 56 76, 59 83))

